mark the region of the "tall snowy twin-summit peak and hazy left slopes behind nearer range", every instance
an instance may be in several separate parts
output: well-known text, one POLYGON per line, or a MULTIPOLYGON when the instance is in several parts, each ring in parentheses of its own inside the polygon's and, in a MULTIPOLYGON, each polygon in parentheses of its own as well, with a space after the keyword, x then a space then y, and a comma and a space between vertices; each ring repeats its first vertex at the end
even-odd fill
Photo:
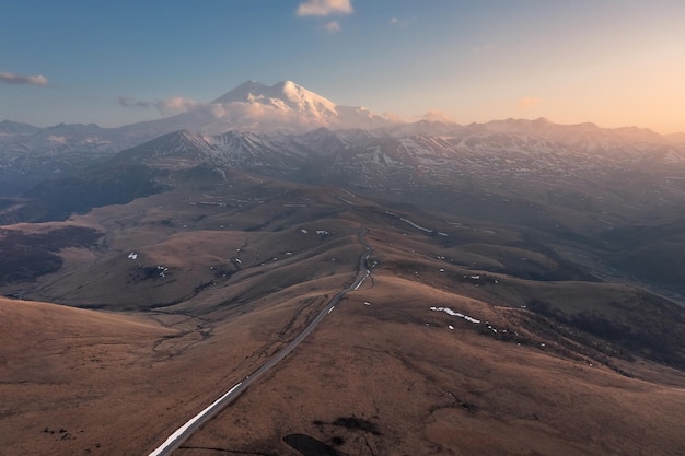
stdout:
POLYGON ((189 112, 119 128, 95 124, 38 128, 4 120, 0 122, 0 194, 15 194, 36 179, 82 169, 178 130, 211 137, 227 131, 302 133, 321 127, 373 129, 390 125, 363 107, 338 106, 290 81, 271 86, 247 81, 189 112), (27 178, 30 175, 34 178, 27 178))

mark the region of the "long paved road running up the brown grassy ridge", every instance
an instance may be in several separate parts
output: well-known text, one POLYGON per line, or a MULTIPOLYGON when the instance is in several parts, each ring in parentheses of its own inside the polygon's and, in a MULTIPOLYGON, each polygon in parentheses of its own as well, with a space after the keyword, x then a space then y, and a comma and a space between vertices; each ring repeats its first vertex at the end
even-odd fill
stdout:
POLYGON ((276 364, 281 362, 283 358, 288 356, 299 344, 302 342, 316 326, 328 315, 335 306, 340 302, 340 300, 345 296, 345 294, 349 291, 357 290, 363 281, 371 274, 369 270, 369 256, 373 252, 373 248, 367 243, 364 239, 364 235, 367 234, 367 229, 362 227, 358 234, 359 242, 364 246, 365 252, 361 254, 359 257, 359 271, 357 272, 357 278, 352 282, 351 285, 338 292, 330 302, 321 311, 321 313, 312 320, 309 325, 295 337, 290 343, 288 343, 281 351, 276 353, 274 358, 267 361, 262 367, 254 371, 252 374, 246 376, 242 382, 234 385, 231 389, 229 389, 223 396, 213 401, 211 405, 207 406, 202 411, 188 420, 184 425, 178 428, 172 435, 164 441, 159 447, 156 447, 149 456, 169 456, 175 449, 177 449, 199 426, 205 424, 207 421, 211 420, 217 416, 221 410, 223 410, 229 404, 237 399, 237 397, 245 391, 255 382, 264 373, 266 373, 269 369, 274 367, 276 364))

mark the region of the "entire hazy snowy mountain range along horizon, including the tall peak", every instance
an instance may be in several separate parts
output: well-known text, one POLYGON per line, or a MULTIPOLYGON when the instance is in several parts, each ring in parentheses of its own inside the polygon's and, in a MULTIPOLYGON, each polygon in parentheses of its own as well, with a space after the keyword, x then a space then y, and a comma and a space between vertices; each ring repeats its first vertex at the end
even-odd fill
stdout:
POLYGON ((391 192, 426 186, 593 189, 606 200, 611 194, 667 204, 684 191, 685 142, 648 129, 544 118, 397 124, 290 81, 248 81, 190 112, 119 128, 0 122, 0 195, 105 163, 158 169, 201 164, 391 192))

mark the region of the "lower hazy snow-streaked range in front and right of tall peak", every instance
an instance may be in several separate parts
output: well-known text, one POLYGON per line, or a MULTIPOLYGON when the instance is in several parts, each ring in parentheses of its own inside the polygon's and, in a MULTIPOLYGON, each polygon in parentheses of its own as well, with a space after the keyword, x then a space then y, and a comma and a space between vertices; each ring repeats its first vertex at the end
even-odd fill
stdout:
POLYGON ((544 192, 564 186, 601 192, 618 184, 623 188, 628 183, 620 179, 632 176, 635 189, 628 185, 626 191, 641 191, 636 198, 646 201, 672 200, 685 190, 685 148, 651 131, 546 120, 419 122, 372 131, 318 128, 297 135, 178 131, 120 156, 158 167, 208 164, 357 189, 468 184, 506 191, 544 192), (659 184, 638 186, 647 182, 659 184))

